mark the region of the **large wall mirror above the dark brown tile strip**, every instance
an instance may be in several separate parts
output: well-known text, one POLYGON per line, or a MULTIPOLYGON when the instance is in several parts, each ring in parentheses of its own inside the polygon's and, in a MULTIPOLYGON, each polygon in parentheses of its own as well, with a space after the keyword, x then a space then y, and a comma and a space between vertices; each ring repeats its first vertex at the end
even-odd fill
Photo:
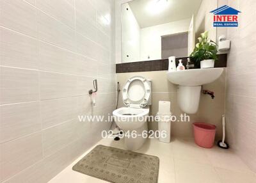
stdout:
MULTIPOLYGON (((122 4, 122 63, 188 56, 196 36, 207 29, 206 12, 200 11, 206 5, 202 0, 133 0, 122 4)), ((217 3, 208 6, 211 10, 217 3)))

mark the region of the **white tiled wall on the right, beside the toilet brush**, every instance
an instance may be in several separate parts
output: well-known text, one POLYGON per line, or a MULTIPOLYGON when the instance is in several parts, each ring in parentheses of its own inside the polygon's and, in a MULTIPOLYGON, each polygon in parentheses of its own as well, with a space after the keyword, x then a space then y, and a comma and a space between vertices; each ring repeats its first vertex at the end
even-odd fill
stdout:
POLYGON ((232 148, 256 171, 256 3, 228 1, 242 13, 239 27, 227 29, 232 45, 227 69, 227 138, 232 148))

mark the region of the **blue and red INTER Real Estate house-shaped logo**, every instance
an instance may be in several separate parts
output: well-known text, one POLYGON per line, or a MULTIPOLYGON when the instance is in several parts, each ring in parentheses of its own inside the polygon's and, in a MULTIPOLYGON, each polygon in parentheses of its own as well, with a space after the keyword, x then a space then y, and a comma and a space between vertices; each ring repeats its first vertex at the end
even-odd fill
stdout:
POLYGON ((238 10, 225 5, 210 13, 214 14, 214 27, 238 27, 238 13, 241 13, 238 10))

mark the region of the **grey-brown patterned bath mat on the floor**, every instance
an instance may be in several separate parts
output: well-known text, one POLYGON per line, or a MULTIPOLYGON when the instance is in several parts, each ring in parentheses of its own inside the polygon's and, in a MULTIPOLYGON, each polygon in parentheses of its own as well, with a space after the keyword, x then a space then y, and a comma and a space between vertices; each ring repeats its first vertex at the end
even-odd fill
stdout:
POLYGON ((113 183, 157 183, 159 158, 98 145, 72 169, 113 183))

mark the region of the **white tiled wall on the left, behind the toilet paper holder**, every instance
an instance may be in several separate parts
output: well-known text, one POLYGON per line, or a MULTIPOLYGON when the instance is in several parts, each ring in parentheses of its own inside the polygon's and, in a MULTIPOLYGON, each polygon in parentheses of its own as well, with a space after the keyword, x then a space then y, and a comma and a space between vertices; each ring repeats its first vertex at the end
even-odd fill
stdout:
POLYGON ((0 1, 0 182, 47 182, 101 137, 115 106, 112 0, 0 1), (98 80, 97 105, 88 90, 98 80))

